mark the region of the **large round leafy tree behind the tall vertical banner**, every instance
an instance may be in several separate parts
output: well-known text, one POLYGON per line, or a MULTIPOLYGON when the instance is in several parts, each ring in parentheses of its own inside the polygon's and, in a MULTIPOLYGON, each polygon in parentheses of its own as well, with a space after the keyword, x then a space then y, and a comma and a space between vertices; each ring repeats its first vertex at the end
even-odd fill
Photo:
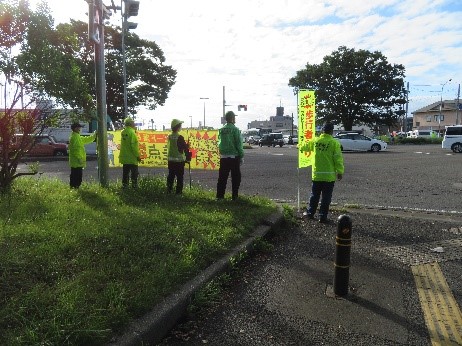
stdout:
POLYGON ((319 65, 307 64, 289 86, 316 91, 316 113, 321 121, 353 125, 392 126, 404 114, 405 69, 391 65, 382 53, 344 46, 319 65))

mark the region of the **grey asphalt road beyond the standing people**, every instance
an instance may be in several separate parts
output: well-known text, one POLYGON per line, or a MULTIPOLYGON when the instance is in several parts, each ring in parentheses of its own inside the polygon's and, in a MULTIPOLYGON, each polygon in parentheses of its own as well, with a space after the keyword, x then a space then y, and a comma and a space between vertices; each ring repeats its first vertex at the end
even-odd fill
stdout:
MULTIPOLYGON (((443 150, 439 145, 391 146, 371 153, 344 153, 345 175, 336 183, 333 203, 361 206, 386 206, 433 211, 462 212, 462 155, 443 150)), ((89 161, 84 180, 98 180, 97 161, 89 161)), ((27 167, 20 166, 20 170, 27 167)), ((40 161, 45 176, 69 179, 65 161, 40 161)), ((142 175, 165 176, 167 169, 141 168, 142 175)), ((121 168, 110 168, 109 179, 122 176, 121 168)), ((192 170, 191 179, 206 189, 215 190, 217 171, 192 170)), ((186 184, 189 181, 185 173, 186 184)), ((297 168, 297 149, 257 147, 245 150, 240 192, 262 195, 292 205, 306 205, 311 169, 297 168)), ((230 186, 228 186, 229 191, 230 186)))

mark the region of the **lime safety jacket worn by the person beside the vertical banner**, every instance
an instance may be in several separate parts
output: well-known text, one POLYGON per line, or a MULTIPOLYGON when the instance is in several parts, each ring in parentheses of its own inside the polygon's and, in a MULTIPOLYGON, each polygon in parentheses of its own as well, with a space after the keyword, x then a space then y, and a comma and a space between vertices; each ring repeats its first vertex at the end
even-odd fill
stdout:
POLYGON ((312 181, 333 182, 337 180, 337 174, 343 174, 345 170, 340 143, 327 133, 305 143, 300 151, 314 152, 312 181))

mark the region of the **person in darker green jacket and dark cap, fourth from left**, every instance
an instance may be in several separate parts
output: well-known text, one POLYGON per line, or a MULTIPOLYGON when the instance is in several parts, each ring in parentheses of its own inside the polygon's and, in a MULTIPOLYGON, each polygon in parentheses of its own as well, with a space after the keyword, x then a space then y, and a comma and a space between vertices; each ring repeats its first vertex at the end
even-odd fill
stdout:
POLYGON ((241 163, 244 158, 241 131, 234 125, 236 115, 229 111, 225 114, 226 124, 218 132, 220 151, 220 169, 218 170, 217 200, 225 198, 226 183, 231 172, 232 199, 237 200, 241 184, 241 163))

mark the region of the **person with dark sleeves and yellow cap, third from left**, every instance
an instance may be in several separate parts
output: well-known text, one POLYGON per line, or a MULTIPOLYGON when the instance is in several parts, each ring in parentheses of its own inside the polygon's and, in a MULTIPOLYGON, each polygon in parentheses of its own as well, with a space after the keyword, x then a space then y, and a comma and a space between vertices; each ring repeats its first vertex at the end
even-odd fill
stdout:
POLYGON ((176 177, 176 194, 183 193, 184 165, 189 158, 189 146, 184 137, 178 132, 181 130, 183 121, 173 119, 171 123, 172 133, 168 135, 167 157, 168 157, 168 176, 167 192, 173 191, 173 182, 176 177))

